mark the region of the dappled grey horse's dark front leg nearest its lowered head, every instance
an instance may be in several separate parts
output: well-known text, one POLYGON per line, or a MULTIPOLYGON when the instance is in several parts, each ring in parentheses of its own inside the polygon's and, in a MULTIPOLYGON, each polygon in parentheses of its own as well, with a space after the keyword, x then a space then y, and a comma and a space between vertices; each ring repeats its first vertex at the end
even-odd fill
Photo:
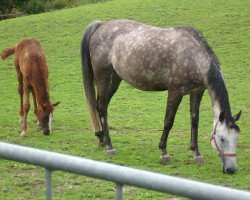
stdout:
POLYGON ((204 162, 198 149, 198 124, 199 124, 199 108, 204 91, 197 94, 190 94, 190 118, 191 118, 191 141, 190 149, 194 152, 194 160, 196 163, 204 162))

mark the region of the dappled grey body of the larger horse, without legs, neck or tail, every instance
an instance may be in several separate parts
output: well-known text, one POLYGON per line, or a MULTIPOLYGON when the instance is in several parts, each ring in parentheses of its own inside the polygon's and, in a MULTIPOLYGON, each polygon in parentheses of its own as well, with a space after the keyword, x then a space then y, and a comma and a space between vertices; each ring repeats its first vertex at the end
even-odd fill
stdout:
POLYGON ((106 22, 90 43, 93 68, 98 72, 99 65, 113 66, 123 80, 142 90, 185 86, 184 92, 189 92, 203 85, 210 62, 194 32, 131 20, 106 22))

